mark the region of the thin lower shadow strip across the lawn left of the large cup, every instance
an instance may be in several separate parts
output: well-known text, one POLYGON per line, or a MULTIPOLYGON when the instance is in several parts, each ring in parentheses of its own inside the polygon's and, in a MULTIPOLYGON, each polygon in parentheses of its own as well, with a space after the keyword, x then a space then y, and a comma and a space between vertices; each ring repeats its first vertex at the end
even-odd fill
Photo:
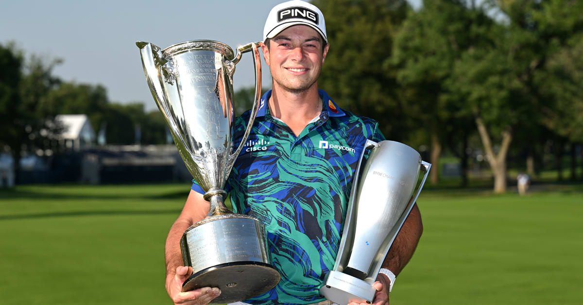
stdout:
POLYGON ((17 214, 17 215, 0 215, 2 220, 16 220, 16 219, 35 219, 35 218, 51 218, 51 217, 78 217, 78 216, 111 216, 111 215, 160 215, 160 214, 175 214, 180 213, 180 209, 159 209, 159 210, 111 210, 111 211, 70 211, 70 212, 50 212, 50 213, 32 213, 32 214, 17 214))

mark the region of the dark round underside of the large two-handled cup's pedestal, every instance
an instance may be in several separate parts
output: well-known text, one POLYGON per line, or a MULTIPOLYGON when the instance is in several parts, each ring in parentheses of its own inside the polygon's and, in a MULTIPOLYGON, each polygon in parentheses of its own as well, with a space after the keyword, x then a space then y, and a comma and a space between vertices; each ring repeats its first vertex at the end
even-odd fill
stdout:
POLYGON ((210 303, 233 303, 268 292, 280 279, 279 272, 261 262, 229 262, 192 274, 182 291, 203 287, 219 288, 221 294, 210 303))

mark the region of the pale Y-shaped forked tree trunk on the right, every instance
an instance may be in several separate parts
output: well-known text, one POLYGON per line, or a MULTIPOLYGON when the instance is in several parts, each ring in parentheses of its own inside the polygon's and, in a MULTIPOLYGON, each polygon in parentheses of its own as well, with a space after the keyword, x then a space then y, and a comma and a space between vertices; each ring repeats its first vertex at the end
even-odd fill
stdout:
POLYGON ((484 125, 484 121, 479 115, 476 115, 476 125, 477 131, 480 134, 480 139, 482 139, 482 145, 486 151, 490 169, 492 169, 492 174, 494 176, 494 192, 496 194, 503 193, 506 191, 506 155, 508 154, 508 148, 510 148, 510 143, 512 142, 512 132, 510 131, 510 128, 507 128, 502 132, 500 150, 495 154, 486 125, 484 125))

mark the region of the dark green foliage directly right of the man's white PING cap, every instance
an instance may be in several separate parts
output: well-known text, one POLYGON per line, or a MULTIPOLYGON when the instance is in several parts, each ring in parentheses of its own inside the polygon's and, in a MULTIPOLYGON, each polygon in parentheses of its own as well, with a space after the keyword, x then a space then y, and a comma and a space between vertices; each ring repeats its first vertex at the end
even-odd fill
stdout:
POLYGON ((406 139, 414 125, 401 103, 390 57, 405 1, 314 1, 326 16, 330 49, 318 86, 340 107, 380 122, 385 136, 406 139))

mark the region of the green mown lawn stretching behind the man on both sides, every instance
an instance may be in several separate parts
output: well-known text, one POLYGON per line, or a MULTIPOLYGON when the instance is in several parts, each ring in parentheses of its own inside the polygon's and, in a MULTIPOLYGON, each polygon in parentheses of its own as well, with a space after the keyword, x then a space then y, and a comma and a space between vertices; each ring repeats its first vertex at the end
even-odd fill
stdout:
MULTIPOLYGON (((169 304, 163 245, 189 185, 0 191, 0 304, 169 304)), ((580 185, 433 190, 392 304, 583 304, 580 185)))

